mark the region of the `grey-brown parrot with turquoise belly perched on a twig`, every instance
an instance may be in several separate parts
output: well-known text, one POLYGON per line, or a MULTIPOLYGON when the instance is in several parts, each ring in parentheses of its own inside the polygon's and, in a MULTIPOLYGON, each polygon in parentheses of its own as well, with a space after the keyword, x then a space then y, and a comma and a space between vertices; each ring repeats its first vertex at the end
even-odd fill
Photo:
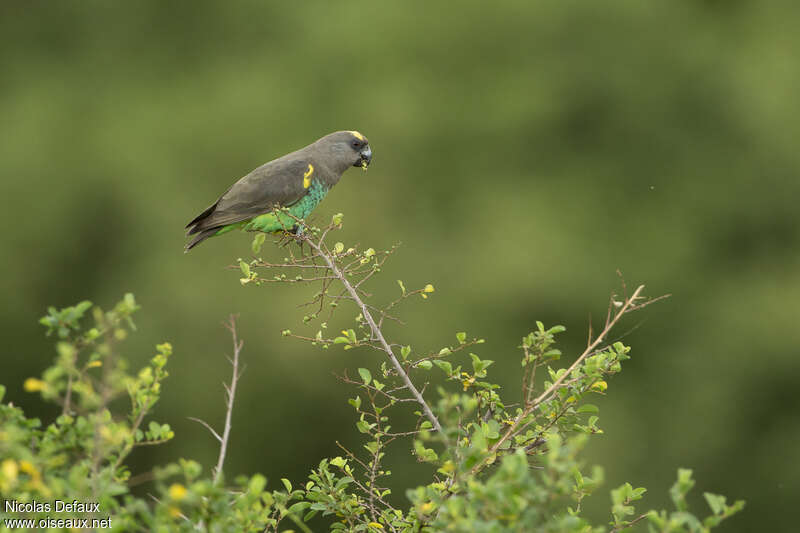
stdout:
POLYGON ((306 218, 345 170, 367 170, 372 149, 357 131, 337 131, 296 152, 265 163, 234 183, 186 225, 194 235, 189 251, 209 237, 233 229, 276 233, 300 231, 293 217, 306 218), (288 208, 287 215, 275 208, 288 208))

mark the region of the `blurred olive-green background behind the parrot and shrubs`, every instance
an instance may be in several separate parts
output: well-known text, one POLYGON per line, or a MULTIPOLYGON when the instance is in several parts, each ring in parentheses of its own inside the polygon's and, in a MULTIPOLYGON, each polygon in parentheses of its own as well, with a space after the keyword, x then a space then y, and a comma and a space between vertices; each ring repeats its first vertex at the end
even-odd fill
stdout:
MULTIPOLYGON (((666 505, 678 466, 749 506, 722 531, 788 530, 800 497, 800 4, 641 2, 3 2, 2 381, 54 357, 47 305, 125 291, 125 344, 175 347, 156 416, 177 436, 139 468, 215 441, 241 313, 247 372, 230 473, 301 480, 355 442, 331 373, 373 354, 281 338, 312 291, 241 287, 231 234, 184 255, 182 228, 261 163, 338 129, 375 151, 317 210, 344 239, 402 241, 372 288, 431 282, 396 340, 466 330, 514 394, 519 340, 567 326, 574 357, 620 269, 673 297, 628 321, 634 359, 601 401, 587 460, 666 505), (287 313, 288 310, 288 313, 287 313)), ((270 252, 276 257, 280 252, 270 252)), ((345 319, 342 314, 340 319, 345 319)), ((316 330, 311 330, 313 331, 316 330)), ((402 452, 398 449, 398 452, 402 452)), ((402 465, 396 497, 416 465, 402 465)), ((274 485, 273 485, 274 486, 274 485)), ((699 504, 698 491, 698 504, 699 504)), ((607 490, 591 513, 606 520, 607 490)))

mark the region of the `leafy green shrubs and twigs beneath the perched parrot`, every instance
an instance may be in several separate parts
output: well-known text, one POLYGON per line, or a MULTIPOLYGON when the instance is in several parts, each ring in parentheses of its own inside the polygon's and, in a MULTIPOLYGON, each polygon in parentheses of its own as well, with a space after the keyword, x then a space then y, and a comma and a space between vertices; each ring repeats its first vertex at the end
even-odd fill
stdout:
MULTIPOLYGON (((395 312, 400 304, 427 299, 435 289, 427 284, 409 290, 398 281, 396 300, 384 306, 366 303, 364 282, 381 271, 394 249, 360 251, 340 242, 328 247, 326 238, 341 224, 336 215, 325 228, 305 228, 288 237, 301 247, 298 253, 288 247, 282 263, 256 258, 239 260, 233 268, 241 272, 243 285, 320 287, 309 302, 314 311, 304 320, 306 327, 319 322, 316 333, 287 329, 284 336, 321 349, 368 348, 383 356, 372 368, 358 368, 357 377, 340 376, 355 389, 349 405, 364 440, 361 449, 342 447, 342 455, 321 460, 297 485, 282 479, 267 488, 260 474, 231 483, 221 475, 229 428, 221 436, 204 423, 221 443, 213 475, 185 459, 132 475, 125 459, 135 447, 173 438, 168 425, 145 424, 167 377, 172 349, 157 346, 148 366, 137 374, 127 372, 116 345, 133 329, 131 316, 138 307, 126 295, 109 312, 81 302, 50 309, 42 319, 48 334, 58 338, 58 355, 41 379, 28 379, 25 388, 61 405, 62 414, 43 426, 19 407, 0 405, 0 496, 19 502, 96 501, 100 506, 94 513, 59 518, 110 517, 119 531, 600 532, 646 524, 650 531, 705 532, 743 508, 744 502, 729 505, 724 496, 706 493, 711 513, 699 518, 686 501, 694 485, 692 472, 681 469, 670 490, 674 511, 636 509, 646 491, 625 483, 611 491, 607 524, 592 524, 582 513, 585 498, 604 477, 602 468, 588 467, 581 459, 592 436, 602 433, 599 409, 591 402, 607 393, 609 379, 631 357, 628 346, 607 339, 625 314, 654 301, 642 296, 643 287, 627 294, 623 285, 622 296, 612 296, 603 329, 590 333, 586 350, 566 368, 556 366, 562 357, 557 336, 564 328, 537 322, 522 338, 522 379, 514 395, 490 380, 495 361, 477 353, 480 338, 457 332, 454 342, 422 351, 389 342, 384 321, 399 321, 395 312), (279 273, 262 275, 269 270, 279 273), (352 324, 329 327, 346 302, 357 310, 352 324), (81 321, 90 309, 95 324, 84 328, 81 321), (329 333, 333 329, 340 332, 329 333), (130 406, 112 409, 122 395, 130 406), (416 424, 396 428, 393 421, 408 412, 416 415, 416 424), (391 494, 386 480, 392 472, 384 466, 388 453, 413 454, 430 465, 431 477, 420 479, 405 495, 391 494), (152 482, 149 498, 131 493, 141 482, 152 482)), ((263 242, 263 236, 256 238, 254 253, 263 242)), ((229 329, 235 347, 226 402, 230 414, 241 342, 233 321, 229 329)), ((36 509, 6 515, 49 516, 36 509)))

